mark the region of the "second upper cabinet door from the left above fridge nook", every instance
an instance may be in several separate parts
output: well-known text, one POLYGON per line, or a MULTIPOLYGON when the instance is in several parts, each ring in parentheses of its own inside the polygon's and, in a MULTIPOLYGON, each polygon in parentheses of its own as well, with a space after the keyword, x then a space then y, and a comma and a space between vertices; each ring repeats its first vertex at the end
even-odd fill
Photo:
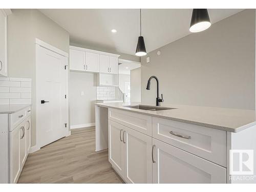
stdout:
POLYGON ((86 52, 86 71, 99 72, 99 54, 86 52))

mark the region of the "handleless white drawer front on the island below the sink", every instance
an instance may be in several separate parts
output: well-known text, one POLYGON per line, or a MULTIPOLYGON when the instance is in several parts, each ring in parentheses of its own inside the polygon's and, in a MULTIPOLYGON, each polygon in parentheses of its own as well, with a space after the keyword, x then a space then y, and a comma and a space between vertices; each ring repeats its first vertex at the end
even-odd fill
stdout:
POLYGON ((109 119, 152 136, 152 117, 123 110, 109 109, 109 119))

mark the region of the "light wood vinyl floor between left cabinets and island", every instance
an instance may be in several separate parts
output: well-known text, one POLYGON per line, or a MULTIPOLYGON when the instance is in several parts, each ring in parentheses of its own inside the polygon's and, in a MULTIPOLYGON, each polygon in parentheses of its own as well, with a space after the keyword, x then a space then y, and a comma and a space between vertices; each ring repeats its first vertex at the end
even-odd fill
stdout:
POLYGON ((18 183, 123 183, 108 160, 108 150, 95 152, 95 127, 71 130, 29 154, 18 183))

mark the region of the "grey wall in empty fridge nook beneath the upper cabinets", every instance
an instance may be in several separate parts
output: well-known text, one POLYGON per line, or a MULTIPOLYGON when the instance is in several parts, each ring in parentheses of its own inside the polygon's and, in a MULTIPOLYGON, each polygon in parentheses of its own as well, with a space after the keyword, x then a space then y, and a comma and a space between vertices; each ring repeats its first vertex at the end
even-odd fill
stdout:
POLYGON ((70 72, 69 103, 70 125, 95 123, 97 75, 70 72), (81 91, 84 95, 81 95, 81 91))

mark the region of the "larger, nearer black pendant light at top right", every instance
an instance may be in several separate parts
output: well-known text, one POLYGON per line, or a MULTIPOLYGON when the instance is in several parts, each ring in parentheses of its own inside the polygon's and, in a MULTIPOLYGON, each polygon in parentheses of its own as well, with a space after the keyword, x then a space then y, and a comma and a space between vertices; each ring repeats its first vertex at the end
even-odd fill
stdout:
POLYGON ((207 9, 193 9, 189 31, 201 32, 210 27, 210 18, 207 9))

